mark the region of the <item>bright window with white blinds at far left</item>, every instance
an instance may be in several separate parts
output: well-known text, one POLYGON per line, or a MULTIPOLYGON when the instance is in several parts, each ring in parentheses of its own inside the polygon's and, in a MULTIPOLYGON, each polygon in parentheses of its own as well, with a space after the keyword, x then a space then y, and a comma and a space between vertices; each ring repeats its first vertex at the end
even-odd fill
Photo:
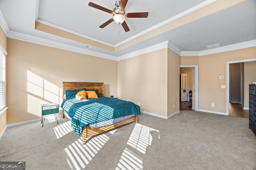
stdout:
POLYGON ((5 107, 5 55, 6 51, 0 45, 0 110, 5 107))

